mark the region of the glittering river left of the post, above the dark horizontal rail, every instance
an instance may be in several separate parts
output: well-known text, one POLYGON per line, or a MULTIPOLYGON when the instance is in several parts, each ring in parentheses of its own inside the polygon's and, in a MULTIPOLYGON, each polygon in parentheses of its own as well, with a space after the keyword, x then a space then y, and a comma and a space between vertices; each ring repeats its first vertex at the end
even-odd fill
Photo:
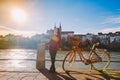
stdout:
POLYGON ((36 59, 36 50, 31 49, 0 50, 0 59, 36 59))

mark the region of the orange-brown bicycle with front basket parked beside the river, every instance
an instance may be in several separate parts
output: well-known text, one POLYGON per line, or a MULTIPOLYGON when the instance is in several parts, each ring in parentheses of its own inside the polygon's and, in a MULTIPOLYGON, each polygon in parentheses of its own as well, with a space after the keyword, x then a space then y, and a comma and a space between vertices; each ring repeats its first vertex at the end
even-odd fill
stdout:
POLYGON ((100 44, 99 42, 92 45, 87 59, 84 57, 84 54, 82 53, 82 50, 79 47, 81 41, 75 37, 71 37, 71 40, 73 43, 72 50, 67 53, 62 64, 62 68, 64 71, 71 70, 75 61, 81 61, 85 65, 91 65, 91 69, 95 70, 103 70, 108 68, 108 66, 110 65, 110 54, 106 49, 96 48, 96 46, 100 44), (80 60, 76 60, 77 54, 80 60))

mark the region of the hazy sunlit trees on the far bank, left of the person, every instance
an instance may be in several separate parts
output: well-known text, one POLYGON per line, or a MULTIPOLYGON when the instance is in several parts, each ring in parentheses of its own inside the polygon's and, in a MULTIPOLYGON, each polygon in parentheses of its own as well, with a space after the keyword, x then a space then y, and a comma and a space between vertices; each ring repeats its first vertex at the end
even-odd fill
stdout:
POLYGON ((0 36, 0 49, 8 49, 8 48, 37 49, 39 44, 46 42, 47 40, 48 40, 48 36, 45 34, 34 35, 31 38, 8 34, 4 37, 0 36))

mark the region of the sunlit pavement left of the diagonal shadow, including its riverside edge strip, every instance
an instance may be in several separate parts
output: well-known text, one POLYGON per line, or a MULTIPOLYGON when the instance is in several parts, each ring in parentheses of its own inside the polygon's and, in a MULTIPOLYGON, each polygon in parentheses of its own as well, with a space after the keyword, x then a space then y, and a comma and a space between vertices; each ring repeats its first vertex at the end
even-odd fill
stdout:
POLYGON ((34 68, 0 68, 0 80, 48 80, 34 68))

